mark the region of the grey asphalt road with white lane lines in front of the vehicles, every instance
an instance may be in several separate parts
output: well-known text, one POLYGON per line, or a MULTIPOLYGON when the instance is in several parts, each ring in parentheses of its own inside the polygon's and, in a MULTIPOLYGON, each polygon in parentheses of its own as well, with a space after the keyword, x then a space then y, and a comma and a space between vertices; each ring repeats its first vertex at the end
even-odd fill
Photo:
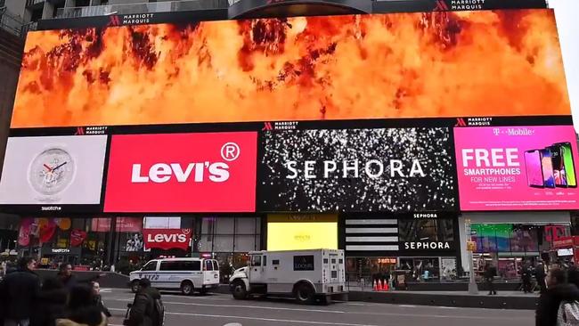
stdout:
MULTIPOLYGON (((110 325, 122 325, 126 304, 134 295, 126 289, 105 289, 103 300, 113 318, 110 325)), ((330 306, 301 306, 285 299, 237 301, 229 295, 183 297, 163 293, 166 326, 528 326, 534 312, 434 306, 393 306, 358 302, 330 306)))

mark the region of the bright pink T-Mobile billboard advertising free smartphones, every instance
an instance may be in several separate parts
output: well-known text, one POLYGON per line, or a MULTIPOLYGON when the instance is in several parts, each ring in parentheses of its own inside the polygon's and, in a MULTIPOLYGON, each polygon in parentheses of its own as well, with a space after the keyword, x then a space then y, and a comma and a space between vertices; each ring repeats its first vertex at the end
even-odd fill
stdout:
POLYGON ((461 210, 578 209, 573 126, 457 127, 461 210))

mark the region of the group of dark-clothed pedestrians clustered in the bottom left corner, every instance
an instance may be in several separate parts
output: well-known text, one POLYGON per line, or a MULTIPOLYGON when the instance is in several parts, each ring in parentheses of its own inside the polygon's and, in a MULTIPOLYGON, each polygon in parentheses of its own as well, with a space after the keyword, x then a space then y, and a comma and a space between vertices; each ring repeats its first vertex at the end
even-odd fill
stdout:
POLYGON ((18 269, 0 281, 0 325, 101 326, 109 310, 102 304, 94 280, 78 281, 70 265, 61 265, 55 278, 41 281, 36 260, 20 259, 18 269))

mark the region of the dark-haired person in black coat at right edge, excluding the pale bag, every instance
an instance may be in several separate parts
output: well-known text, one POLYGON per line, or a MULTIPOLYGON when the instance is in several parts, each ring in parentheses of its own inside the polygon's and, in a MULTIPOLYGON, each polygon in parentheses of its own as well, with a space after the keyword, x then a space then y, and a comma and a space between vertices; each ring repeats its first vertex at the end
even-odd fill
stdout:
POLYGON ((567 273, 553 268, 547 273, 547 290, 539 297, 535 312, 535 326, 556 326, 561 301, 579 300, 579 289, 567 282, 567 273))

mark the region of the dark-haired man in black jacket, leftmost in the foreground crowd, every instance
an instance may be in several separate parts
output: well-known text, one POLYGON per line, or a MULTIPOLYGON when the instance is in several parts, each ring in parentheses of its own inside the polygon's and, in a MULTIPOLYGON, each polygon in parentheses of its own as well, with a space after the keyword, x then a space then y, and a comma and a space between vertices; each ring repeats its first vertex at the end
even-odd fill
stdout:
POLYGON ((0 296, 4 307, 4 326, 29 326, 32 309, 40 291, 40 278, 33 272, 37 261, 22 257, 18 271, 6 275, 0 296))

